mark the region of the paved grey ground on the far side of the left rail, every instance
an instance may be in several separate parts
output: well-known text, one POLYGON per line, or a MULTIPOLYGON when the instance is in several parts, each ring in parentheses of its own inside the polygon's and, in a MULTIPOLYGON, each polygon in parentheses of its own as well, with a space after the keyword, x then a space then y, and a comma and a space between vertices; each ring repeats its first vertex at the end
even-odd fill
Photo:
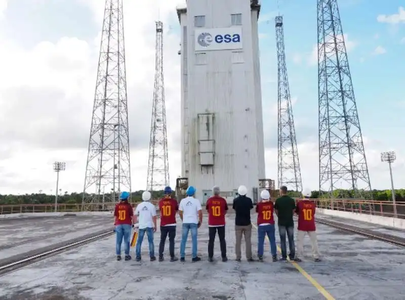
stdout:
POLYGON ((0 260, 103 229, 111 216, 63 216, 0 220, 0 260))

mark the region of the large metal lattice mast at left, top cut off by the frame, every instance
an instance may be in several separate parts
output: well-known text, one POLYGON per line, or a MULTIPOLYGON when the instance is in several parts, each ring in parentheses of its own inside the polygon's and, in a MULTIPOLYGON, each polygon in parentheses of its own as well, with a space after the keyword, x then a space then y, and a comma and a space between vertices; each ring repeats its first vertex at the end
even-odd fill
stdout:
POLYGON ((106 0, 83 203, 131 191, 123 0, 106 0))

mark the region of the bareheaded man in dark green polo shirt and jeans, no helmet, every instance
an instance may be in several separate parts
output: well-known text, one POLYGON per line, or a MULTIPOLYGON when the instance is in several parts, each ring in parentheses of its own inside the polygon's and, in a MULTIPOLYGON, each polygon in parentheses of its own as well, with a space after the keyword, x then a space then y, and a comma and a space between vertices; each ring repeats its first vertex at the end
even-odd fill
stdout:
POLYGON ((295 211, 295 200, 287 194, 287 186, 280 187, 280 197, 276 199, 274 211, 278 218, 278 233, 280 235, 281 259, 282 262, 287 262, 287 244, 290 246, 290 260, 295 260, 295 244, 294 244, 294 220, 293 214, 295 211))

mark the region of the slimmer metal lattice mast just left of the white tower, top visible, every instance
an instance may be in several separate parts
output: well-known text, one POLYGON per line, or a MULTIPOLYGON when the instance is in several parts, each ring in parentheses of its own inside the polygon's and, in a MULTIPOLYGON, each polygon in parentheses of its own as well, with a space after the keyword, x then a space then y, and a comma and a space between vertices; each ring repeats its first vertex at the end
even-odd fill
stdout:
POLYGON ((166 130, 165 84, 163 80, 163 23, 156 22, 155 84, 150 125, 147 190, 169 185, 168 139, 166 130))

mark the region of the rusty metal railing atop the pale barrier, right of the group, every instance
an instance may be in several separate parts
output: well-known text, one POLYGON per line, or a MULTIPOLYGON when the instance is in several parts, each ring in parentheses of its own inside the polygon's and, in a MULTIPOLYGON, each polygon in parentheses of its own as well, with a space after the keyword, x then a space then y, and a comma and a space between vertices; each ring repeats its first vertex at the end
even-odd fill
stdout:
MULTIPOLYGON (((370 214, 383 217, 395 217, 394 205, 389 201, 366 201, 352 199, 311 199, 316 207, 334 211, 343 211, 359 214, 370 214)), ((396 202, 396 217, 405 219, 405 202, 396 202)))

